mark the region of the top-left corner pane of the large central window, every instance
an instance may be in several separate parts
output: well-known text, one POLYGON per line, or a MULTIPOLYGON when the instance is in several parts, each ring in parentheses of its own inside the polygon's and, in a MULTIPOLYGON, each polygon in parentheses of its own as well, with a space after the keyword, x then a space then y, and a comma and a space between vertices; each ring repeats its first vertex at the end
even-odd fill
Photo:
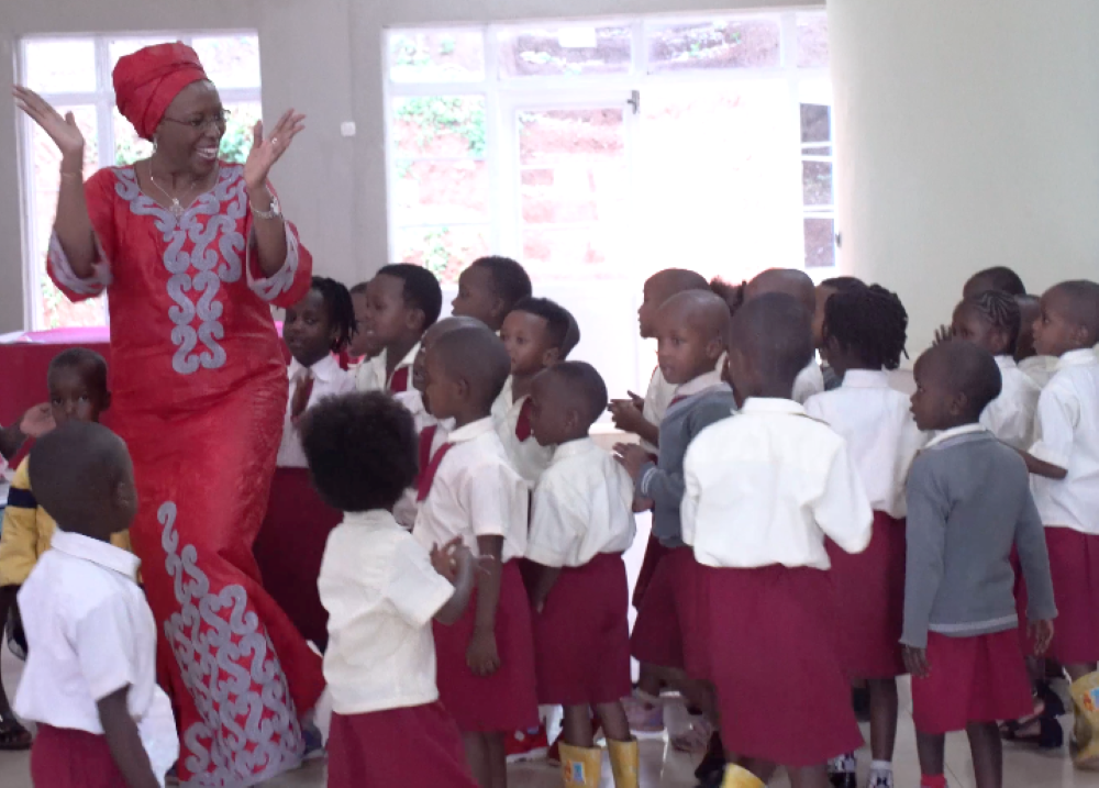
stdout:
POLYGON ((485 79, 485 35, 477 30, 397 30, 389 34, 389 78, 395 82, 479 82, 485 79))

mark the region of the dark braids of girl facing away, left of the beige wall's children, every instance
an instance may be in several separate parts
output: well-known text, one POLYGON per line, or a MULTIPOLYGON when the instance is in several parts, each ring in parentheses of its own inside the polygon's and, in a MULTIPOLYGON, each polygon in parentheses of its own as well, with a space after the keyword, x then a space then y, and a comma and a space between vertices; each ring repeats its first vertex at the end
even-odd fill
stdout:
POLYGON ((907 355, 908 312, 880 285, 840 290, 824 306, 824 336, 854 351, 868 368, 896 369, 907 355))

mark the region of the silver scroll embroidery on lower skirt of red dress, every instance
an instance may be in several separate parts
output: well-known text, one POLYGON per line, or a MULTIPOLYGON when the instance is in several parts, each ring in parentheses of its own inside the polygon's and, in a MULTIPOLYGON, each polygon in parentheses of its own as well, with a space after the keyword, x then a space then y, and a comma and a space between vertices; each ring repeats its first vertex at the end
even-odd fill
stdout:
POLYGON ((180 609, 164 622, 202 722, 181 733, 188 786, 229 788, 268 779, 301 761, 304 740, 282 667, 247 593, 240 585, 219 593, 197 565, 195 545, 176 531, 176 504, 157 510, 160 544, 180 609))

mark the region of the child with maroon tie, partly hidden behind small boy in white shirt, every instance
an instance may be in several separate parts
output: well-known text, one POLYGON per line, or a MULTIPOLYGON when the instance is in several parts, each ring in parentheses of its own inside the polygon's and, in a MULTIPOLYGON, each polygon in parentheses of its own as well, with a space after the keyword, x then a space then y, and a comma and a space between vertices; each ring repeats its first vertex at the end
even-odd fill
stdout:
POLYGON ((511 464, 532 489, 548 467, 553 447, 540 446, 531 433, 531 382, 546 367, 565 360, 579 342, 575 326, 564 307, 547 298, 524 298, 500 329, 511 358, 511 376, 492 404, 492 417, 511 464), (574 331, 574 337, 569 337, 574 331))

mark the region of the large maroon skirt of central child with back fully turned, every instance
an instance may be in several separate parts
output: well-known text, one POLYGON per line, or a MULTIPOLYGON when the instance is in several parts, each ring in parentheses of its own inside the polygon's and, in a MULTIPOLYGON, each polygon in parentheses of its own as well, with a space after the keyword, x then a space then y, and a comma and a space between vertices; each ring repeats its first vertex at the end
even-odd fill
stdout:
POLYGON ((863 736, 835 646, 828 573, 806 567, 699 566, 708 676, 721 739, 742 757, 815 766, 863 736))

